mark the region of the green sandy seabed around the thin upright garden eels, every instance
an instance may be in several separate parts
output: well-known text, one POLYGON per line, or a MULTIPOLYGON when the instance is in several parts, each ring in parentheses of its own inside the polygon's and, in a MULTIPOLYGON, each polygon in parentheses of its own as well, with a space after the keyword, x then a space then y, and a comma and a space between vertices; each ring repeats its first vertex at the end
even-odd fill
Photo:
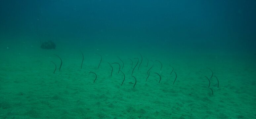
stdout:
MULTIPOLYGON (((84 52, 85 60, 80 69, 82 56, 75 52, 58 50, 32 51, 1 49, 0 64, 0 118, 60 118, 60 119, 252 119, 256 118, 256 69, 255 56, 208 56, 178 54, 169 58, 161 54, 147 54, 154 62, 148 81, 147 71, 152 65, 143 57, 140 69, 136 67, 131 77, 132 67, 128 58, 140 58, 139 53, 124 53, 119 57, 124 61, 118 72, 118 65, 111 67, 107 62, 121 61, 114 53, 84 52), (29 52, 28 52, 29 51, 29 52), (21 52, 21 53, 20 53, 21 52), (103 61, 99 67, 100 57, 103 61), (58 70, 63 60, 61 71, 58 70), (248 57, 251 57, 248 58, 248 57), (254 60, 253 60, 254 59, 254 60), (57 71, 53 74, 54 61, 57 71), (177 80, 173 85, 174 67, 177 80), (220 86, 213 77, 210 88, 208 80, 211 71, 219 78, 220 86), (95 75, 98 75, 93 83, 95 75), (160 83, 159 76, 162 80, 160 83)), ((146 55, 144 55, 146 54, 146 55)), ((133 59, 134 64, 136 59, 133 59)), ((140 62, 139 62, 140 63, 140 62)))

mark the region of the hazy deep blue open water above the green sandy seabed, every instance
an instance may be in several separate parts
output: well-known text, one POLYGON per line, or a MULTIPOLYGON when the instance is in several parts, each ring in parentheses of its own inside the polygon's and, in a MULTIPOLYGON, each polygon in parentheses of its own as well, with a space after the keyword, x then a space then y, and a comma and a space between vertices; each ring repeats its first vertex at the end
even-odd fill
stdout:
POLYGON ((255 52, 255 5, 254 0, 1 1, 0 31, 2 37, 30 35, 41 42, 255 52))

